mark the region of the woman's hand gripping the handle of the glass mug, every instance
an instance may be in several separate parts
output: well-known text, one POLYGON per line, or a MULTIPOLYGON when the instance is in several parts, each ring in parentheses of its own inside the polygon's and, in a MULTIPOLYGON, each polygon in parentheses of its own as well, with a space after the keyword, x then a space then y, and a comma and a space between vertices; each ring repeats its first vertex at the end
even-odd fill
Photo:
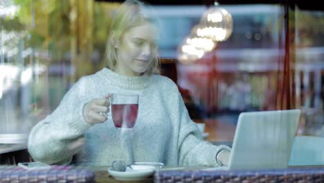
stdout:
POLYGON ((83 117, 87 123, 91 125, 96 123, 103 123, 107 120, 107 116, 104 116, 100 113, 108 113, 109 110, 109 99, 110 95, 108 94, 105 98, 95 98, 89 101, 83 108, 83 117))

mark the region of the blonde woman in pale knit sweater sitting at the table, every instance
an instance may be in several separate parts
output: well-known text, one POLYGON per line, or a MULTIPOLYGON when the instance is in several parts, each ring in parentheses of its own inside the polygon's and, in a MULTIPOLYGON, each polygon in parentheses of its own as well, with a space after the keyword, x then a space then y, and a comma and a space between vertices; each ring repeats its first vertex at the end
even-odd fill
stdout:
POLYGON ((226 165, 230 148, 203 141, 177 85, 155 74, 155 38, 156 28, 143 12, 143 3, 125 1, 111 27, 107 68, 80 78, 59 107, 35 125, 28 141, 33 159, 69 164, 77 154, 78 164, 86 166, 110 166, 117 159, 166 166, 226 165), (111 93, 138 94, 132 130, 123 132, 102 115, 110 111, 111 93))

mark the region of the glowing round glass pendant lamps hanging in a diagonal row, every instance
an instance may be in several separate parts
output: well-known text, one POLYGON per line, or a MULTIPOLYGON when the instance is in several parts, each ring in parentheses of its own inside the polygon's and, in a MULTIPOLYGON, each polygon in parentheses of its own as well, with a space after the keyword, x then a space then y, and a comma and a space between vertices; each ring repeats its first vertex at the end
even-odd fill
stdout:
POLYGON ((178 48, 178 60, 182 63, 194 62, 213 51, 217 42, 224 42, 233 32, 233 18, 224 8, 215 6, 208 8, 202 15, 199 24, 194 26, 190 35, 178 48))

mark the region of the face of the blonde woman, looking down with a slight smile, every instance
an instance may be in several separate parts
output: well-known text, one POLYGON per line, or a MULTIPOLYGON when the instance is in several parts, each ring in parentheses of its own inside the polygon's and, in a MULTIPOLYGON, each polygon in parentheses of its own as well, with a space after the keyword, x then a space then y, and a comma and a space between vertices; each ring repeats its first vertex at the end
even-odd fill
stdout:
POLYGON ((140 76, 149 69, 156 55, 156 29, 146 23, 131 28, 117 44, 116 72, 125 76, 140 76))

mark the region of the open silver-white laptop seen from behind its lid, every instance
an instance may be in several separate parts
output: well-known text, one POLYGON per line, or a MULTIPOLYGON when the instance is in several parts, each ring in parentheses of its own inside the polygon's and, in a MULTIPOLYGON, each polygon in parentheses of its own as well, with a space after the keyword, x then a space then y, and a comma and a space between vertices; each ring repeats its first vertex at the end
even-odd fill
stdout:
POLYGON ((300 110, 242 112, 228 166, 206 170, 287 168, 300 110))

